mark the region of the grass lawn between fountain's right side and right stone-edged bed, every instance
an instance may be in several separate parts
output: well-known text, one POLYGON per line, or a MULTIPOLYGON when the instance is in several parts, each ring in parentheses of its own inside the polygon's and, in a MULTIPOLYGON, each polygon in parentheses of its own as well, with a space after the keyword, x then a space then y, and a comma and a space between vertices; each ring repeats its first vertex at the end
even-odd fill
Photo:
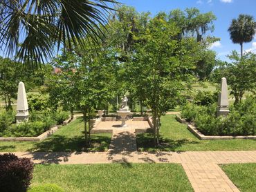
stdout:
POLYGON ((256 140, 208 140, 203 141, 188 131, 185 124, 176 121, 174 115, 161 117, 161 146, 154 146, 152 133, 136 135, 139 151, 248 151, 256 150, 256 140))

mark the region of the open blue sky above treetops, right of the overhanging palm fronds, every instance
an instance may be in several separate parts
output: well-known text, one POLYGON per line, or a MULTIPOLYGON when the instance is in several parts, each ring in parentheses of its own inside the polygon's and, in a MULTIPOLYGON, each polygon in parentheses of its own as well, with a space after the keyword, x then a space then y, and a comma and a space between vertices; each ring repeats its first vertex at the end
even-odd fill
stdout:
MULTIPOLYGON (((231 50, 239 52, 239 44, 232 44, 228 27, 231 20, 236 19, 239 14, 252 15, 256 20, 256 1, 255 0, 120 0, 127 6, 133 6, 138 12, 152 12, 152 16, 159 11, 169 12, 179 8, 198 8, 201 12, 212 11, 217 17, 214 21, 215 30, 212 32, 214 37, 221 38, 212 50, 217 52, 217 57, 227 60, 226 55, 231 50)), ((254 50, 256 52, 256 37, 250 43, 244 44, 244 50, 254 50)))

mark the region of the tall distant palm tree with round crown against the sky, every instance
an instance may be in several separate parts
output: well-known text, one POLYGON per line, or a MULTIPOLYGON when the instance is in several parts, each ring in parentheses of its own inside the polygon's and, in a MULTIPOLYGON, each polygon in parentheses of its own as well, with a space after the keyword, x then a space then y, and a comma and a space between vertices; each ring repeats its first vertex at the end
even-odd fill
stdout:
POLYGON ((232 19, 228 32, 230 32, 232 42, 234 44, 240 44, 242 57, 243 44, 252 41, 256 32, 256 23, 253 16, 241 14, 238 19, 232 19))

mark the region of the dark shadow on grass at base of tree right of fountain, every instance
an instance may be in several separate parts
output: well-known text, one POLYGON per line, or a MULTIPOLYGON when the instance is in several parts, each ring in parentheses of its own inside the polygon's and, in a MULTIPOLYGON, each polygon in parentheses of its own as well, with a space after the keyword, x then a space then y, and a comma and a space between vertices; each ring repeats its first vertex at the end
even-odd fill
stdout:
MULTIPOLYGON (((154 145, 154 137, 152 133, 144 133, 136 135, 137 148, 138 151, 177 151, 179 148, 185 144, 198 144, 199 142, 190 141, 187 139, 182 140, 170 140, 165 137, 160 137, 160 144, 158 146, 154 145)), ((165 161, 165 160, 163 160, 165 161)))

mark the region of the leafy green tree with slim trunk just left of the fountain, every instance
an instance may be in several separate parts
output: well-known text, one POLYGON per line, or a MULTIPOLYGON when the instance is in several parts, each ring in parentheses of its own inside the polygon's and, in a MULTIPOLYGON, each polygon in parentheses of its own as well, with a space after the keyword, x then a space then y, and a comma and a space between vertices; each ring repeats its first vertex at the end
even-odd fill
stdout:
MULTIPOLYGON (((93 44, 93 41, 88 41, 93 44)), ((62 52, 55 60, 60 72, 53 74, 46 83, 46 93, 55 104, 81 111, 84 119, 84 138, 90 144, 91 119, 95 109, 102 109, 115 93, 112 68, 113 54, 102 45, 87 45, 86 50, 73 49, 62 52)))

